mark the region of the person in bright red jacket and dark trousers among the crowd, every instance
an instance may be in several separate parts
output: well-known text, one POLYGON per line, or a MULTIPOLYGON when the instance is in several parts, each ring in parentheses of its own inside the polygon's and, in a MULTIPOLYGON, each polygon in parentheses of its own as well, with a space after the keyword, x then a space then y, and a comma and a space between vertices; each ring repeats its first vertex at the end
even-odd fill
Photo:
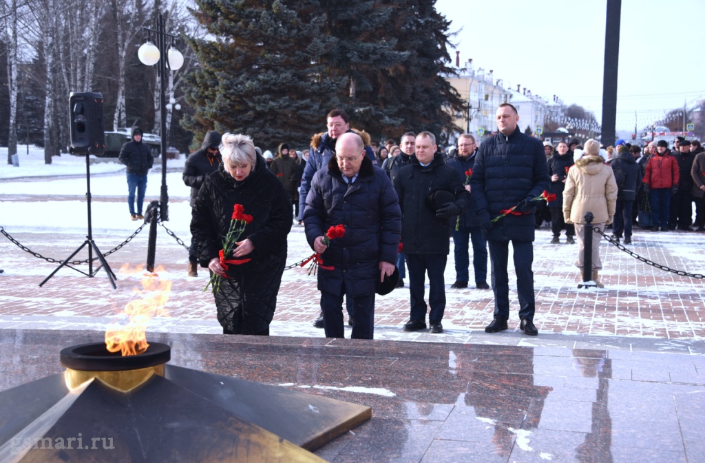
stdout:
POLYGON ((659 225, 661 232, 667 232, 670 196, 678 191, 678 161, 670 155, 666 140, 658 140, 656 156, 651 156, 649 162, 646 162, 643 185, 644 192, 649 193, 651 200, 654 232, 658 231, 659 225))

